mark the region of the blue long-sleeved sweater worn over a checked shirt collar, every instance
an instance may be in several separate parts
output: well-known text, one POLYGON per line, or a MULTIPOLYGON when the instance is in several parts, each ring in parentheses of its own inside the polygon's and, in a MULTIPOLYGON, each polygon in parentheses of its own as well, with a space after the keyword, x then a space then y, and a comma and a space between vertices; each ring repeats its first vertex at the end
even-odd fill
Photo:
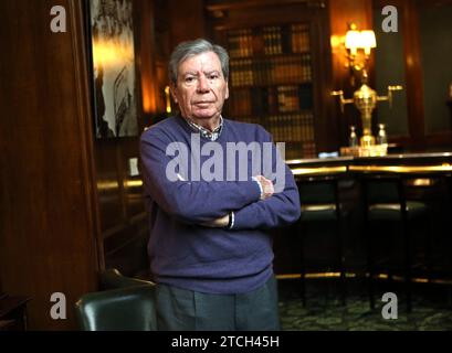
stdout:
MULTIPOLYGON (((227 181, 225 164, 224 178, 220 181, 190 181, 187 175, 171 181, 166 171, 174 157, 167 156, 167 147, 175 141, 190 147, 192 133, 183 118, 171 117, 141 135, 151 272, 157 282, 201 292, 253 290, 273 274, 272 239, 266 231, 299 217, 299 196, 293 174, 284 165, 284 190, 265 201, 260 201, 260 188, 251 179, 251 168, 248 179, 242 181, 227 181), (231 229, 200 225, 230 211, 234 212, 231 229)), ((210 142, 199 138, 201 148, 210 142)), ((271 136, 259 125, 223 119, 217 142, 225 151, 227 142, 239 141, 270 142, 271 136)), ((200 162, 207 159, 201 157, 200 162)))

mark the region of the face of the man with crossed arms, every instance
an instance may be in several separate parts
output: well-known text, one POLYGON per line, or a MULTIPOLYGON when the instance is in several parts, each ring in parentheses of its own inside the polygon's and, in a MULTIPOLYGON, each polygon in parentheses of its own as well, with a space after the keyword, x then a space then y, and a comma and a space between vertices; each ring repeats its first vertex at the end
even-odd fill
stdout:
POLYGON ((213 52, 191 56, 178 67, 172 96, 185 118, 195 121, 217 118, 229 97, 228 82, 213 52))

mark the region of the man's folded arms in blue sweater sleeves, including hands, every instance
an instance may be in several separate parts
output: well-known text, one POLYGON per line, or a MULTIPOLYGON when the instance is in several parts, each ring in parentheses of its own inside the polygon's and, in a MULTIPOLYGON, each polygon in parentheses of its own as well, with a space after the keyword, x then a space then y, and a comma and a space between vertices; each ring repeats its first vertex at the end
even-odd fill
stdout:
MULTIPOLYGON (((264 175, 246 181, 170 181, 166 175, 168 138, 151 130, 140 140, 144 182, 146 192, 166 213, 189 224, 225 227, 232 211, 232 231, 273 228, 299 217, 298 190, 286 165, 285 186, 277 193, 264 175)), ((271 141, 270 135, 265 139, 271 141)))

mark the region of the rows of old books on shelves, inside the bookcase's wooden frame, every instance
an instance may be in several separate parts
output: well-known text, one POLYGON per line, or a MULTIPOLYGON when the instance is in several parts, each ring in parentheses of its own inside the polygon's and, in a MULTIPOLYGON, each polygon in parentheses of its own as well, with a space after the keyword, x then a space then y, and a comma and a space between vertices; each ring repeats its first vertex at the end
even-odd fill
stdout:
POLYGON ((225 31, 230 54, 229 117, 264 126, 286 158, 316 156, 309 25, 225 31))

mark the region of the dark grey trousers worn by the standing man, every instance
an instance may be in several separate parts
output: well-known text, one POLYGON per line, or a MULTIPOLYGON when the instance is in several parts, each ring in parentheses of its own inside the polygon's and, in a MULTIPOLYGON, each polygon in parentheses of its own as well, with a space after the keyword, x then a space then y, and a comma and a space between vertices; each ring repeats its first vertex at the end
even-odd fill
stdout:
POLYGON ((157 328, 162 331, 277 331, 277 284, 239 295, 209 295, 159 284, 157 328))

